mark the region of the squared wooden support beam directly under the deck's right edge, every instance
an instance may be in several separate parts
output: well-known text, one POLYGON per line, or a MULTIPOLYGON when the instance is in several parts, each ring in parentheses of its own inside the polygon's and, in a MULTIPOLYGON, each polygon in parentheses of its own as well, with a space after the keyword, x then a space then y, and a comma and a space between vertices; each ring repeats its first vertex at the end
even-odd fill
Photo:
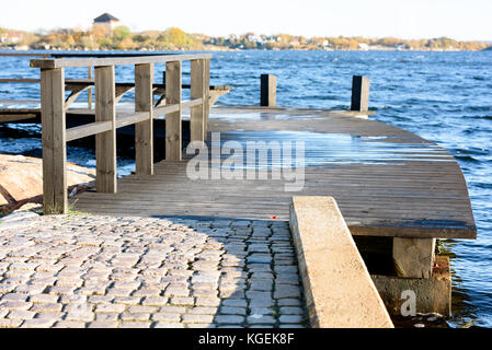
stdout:
POLYGON ((399 277, 431 278, 435 238, 393 238, 393 262, 399 277))

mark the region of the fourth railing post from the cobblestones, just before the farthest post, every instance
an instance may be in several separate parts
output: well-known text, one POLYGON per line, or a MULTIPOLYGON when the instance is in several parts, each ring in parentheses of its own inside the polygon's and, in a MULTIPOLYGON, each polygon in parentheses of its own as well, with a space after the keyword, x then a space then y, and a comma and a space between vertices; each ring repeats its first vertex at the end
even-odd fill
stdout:
POLYGON ((181 161, 181 61, 165 62, 165 104, 180 104, 165 115, 165 160, 181 161))

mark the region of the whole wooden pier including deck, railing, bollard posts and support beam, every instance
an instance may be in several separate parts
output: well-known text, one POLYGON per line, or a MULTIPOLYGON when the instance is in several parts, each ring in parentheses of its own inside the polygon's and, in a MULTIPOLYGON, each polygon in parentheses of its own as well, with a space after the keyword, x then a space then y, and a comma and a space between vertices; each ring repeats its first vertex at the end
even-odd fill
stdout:
MULTIPOLYGON (((348 110, 278 107, 271 75, 262 78, 261 106, 210 108, 209 59, 201 54, 32 60, 32 67, 41 68, 45 212, 67 212, 66 142, 95 135, 96 186, 71 198, 81 212, 287 221, 293 196, 331 196, 352 235, 391 238, 394 269, 407 281, 432 280, 436 238, 476 237, 456 160, 431 141, 369 120, 367 115, 374 113, 368 110, 367 78, 354 77, 348 110), (186 102, 181 100, 183 60, 192 61, 186 102), (152 67, 160 62, 165 63, 165 86, 153 83, 152 67), (134 110, 116 106, 117 65, 135 65, 135 83, 128 85, 135 86, 134 110), (95 86, 95 120, 66 129, 64 69, 69 67, 94 67, 94 82, 85 82, 84 89, 95 86), (164 89, 162 104, 152 97, 159 88, 164 89), (191 108, 190 140, 199 145, 190 154, 182 141, 184 108, 191 108), (160 115, 165 115, 162 144, 155 142, 152 131, 160 115), (133 124, 136 172, 117 179, 115 132, 133 124), (244 156, 236 163, 243 172, 228 173, 230 163, 222 161, 230 161, 230 145, 245 154, 251 142, 254 152, 265 152, 271 166, 261 172, 254 163, 251 168, 244 156), (285 142, 302 148, 302 164, 290 168, 294 177, 283 176, 285 168, 275 163, 275 147, 285 142), (153 162, 155 148, 165 149, 164 161, 153 162), (219 150, 215 161, 214 148, 219 150), (205 149, 211 153, 202 168, 205 176, 190 176, 191 159, 205 149), (227 152, 220 152, 224 149, 227 152), (293 182, 300 186, 286 190, 293 182)), ((444 310, 449 304, 446 301, 444 310)))

